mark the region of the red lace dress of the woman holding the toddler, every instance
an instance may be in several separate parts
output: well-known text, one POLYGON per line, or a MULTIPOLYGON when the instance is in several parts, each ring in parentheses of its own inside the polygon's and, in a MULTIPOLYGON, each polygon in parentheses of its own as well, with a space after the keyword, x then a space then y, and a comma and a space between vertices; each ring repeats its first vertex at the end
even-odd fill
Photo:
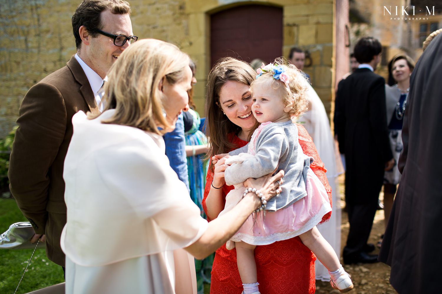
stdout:
MULTIPOLYGON (((310 168, 324 184, 331 204, 331 188, 325 175, 324 164, 319 158, 312 138, 304 127, 297 124, 298 139, 302 151, 312 156, 314 162, 310 168)), ((240 148, 248 142, 242 141, 236 135, 229 136, 231 141, 240 148)), ((202 207, 207 213, 206 198, 213 181, 213 172, 207 173, 206 189, 202 207)), ((222 197, 233 189, 233 186, 222 187, 222 197)), ((322 221, 330 218, 331 212, 322 221)), ((210 219, 208 218, 210 221, 210 219)), ((266 294, 315 293, 315 255, 301 242, 299 237, 274 242, 270 245, 256 246, 255 262, 258 270, 259 291, 266 294)), ((243 290, 240 273, 236 265, 236 250, 227 250, 221 246, 215 253, 210 283, 211 294, 240 294, 243 290)))

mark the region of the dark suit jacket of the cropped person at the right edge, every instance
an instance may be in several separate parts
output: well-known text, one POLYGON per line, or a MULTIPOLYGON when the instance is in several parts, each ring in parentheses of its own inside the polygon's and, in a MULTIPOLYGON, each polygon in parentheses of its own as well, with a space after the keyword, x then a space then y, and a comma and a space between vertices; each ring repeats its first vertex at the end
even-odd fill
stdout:
POLYGON ((402 173, 379 260, 401 294, 440 293, 442 243, 442 34, 423 52, 410 79, 399 158, 402 173))

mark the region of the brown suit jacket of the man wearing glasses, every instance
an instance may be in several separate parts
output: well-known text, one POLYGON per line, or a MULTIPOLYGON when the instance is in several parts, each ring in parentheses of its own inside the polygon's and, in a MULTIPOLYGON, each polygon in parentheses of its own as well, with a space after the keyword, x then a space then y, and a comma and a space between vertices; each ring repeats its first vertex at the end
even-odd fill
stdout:
POLYGON ((48 258, 61 266, 65 255, 60 236, 66 223, 63 164, 72 115, 80 110, 99 113, 88 78, 72 56, 65 67, 26 93, 9 162, 11 193, 35 233, 46 234, 48 258))

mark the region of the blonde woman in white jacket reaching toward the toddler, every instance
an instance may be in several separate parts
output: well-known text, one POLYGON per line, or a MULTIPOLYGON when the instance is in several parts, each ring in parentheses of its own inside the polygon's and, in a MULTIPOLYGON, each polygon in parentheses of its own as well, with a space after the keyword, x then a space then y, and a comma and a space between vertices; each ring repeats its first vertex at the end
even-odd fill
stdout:
POLYGON ((262 194, 248 192, 224 217, 200 216, 161 137, 188 107, 191 78, 175 45, 137 41, 110 69, 105 111, 73 116, 63 173, 66 293, 196 293, 187 253, 208 256, 276 194, 283 172, 246 181, 262 194))

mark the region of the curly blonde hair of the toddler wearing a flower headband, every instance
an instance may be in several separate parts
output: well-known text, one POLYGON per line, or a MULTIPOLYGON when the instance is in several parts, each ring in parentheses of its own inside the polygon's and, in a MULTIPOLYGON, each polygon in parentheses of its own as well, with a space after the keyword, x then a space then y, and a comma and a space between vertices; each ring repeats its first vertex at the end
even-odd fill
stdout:
POLYGON ((305 91, 307 90, 307 80, 305 79, 305 75, 293 64, 287 63, 282 57, 277 58, 272 62, 272 64, 275 63, 277 66, 283 67, 285 70, 284 73, 289 76, 290 81, 287 85, 281 80, 274 79, 274 72, 267 71, 251 83, 251 92, 253 93, 253 86, 259 83, 267 83, 267 86, 271 87, 271 89, 279 91, 284 105, 290 108, 288 112, 289 115, 299 116, 306 112, 308 107, 308 101, 305 97, 305 91))

